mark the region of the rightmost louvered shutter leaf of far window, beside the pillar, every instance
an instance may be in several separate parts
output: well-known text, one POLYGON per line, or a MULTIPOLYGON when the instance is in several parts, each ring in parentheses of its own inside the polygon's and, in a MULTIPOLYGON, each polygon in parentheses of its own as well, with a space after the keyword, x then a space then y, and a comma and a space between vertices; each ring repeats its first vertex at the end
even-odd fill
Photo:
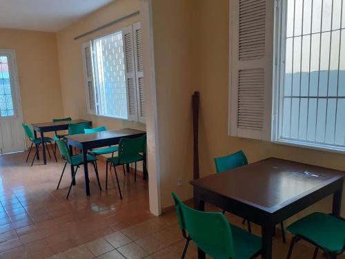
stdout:
POLYGON ((146 98, 144 91, 143 37, 140 23, 133 24, 135 50, 135 77, 137 82, 137 106, 139 122, 146 122, 146 98))

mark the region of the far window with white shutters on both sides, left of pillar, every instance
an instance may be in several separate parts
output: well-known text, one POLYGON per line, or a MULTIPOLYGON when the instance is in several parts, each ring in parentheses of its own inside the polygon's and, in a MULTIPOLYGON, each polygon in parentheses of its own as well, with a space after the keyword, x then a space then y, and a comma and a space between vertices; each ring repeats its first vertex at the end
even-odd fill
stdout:
POLYGON ((88 113, 145 122, 140 23, 83 44, 88 113))

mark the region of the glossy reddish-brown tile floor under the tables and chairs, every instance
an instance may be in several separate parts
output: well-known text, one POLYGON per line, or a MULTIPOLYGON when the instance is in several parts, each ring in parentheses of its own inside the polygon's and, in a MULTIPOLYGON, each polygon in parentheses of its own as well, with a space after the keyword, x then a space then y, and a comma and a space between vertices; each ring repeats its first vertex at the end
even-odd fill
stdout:
MULTIPOLYGON (((108 191, 99 192, 90 167, 91 195, 83 189, 83 173, 77 175, 68 200, 69 170, 56 190, 63 161, 32 167, 23 162, 26 153, 0 156, 0 258, 180 258, 184 240, 174 213, 153 217, 148 211, 148 183, 134 182, 132 173, 119 178, 124 200, 119 200, 114 179, 108 191)), ((120 166, 119 166, 120 167, 120 166)), ((101 185, 104 164, 99 162, 101 185)), ((210 208, 208 208, 210 209, 210 208)), ((242 220, 227 213, 230 222, 242 220)), ((259 234, 260 229, 253 226, 259 234)), ((274 240, 273 258, 286 258, 288 244, 274 240)), ((193 243, 186 258, 196 258, 193 243)), ((298 243, 292 258, 312 258, 313 249, 298 243)), ((322 258, 319 254, 318 258, 322 258)), ((342 257, 344 258, 344 257, 342 257)))

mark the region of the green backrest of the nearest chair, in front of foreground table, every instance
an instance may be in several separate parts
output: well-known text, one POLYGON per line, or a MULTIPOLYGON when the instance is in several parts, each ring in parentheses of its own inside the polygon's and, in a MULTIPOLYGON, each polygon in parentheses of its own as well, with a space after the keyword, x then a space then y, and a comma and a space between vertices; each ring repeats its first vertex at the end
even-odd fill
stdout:
POLYGON ((213 258, 235 258, 230 224, 222 213, 197 211, 186 206, 175 193, 172 197, 179 207, 182 226, 197 247, 213 258))

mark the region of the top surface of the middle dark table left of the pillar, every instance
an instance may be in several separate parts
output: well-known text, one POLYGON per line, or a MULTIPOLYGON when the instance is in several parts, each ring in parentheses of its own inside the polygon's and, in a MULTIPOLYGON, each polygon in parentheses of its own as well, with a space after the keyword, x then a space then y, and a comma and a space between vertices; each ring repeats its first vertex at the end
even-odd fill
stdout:
POLYGON ((76 134, 76 135, 68 135, 66 139, 68 140, 68 144, 72 144, 74 146, 81 146, 83 144, 95 144, 96 146, 102 146, 103 144, 115 144, 115 143, 107 143, 108 141, 114 140, 119 141, 122 137, 139 137, 141 135, 146 134, 145 131, 138 131, 133 128, 120 128, 111 131, 100 131, 97 133, 88 133, 88 134, 76 134))

